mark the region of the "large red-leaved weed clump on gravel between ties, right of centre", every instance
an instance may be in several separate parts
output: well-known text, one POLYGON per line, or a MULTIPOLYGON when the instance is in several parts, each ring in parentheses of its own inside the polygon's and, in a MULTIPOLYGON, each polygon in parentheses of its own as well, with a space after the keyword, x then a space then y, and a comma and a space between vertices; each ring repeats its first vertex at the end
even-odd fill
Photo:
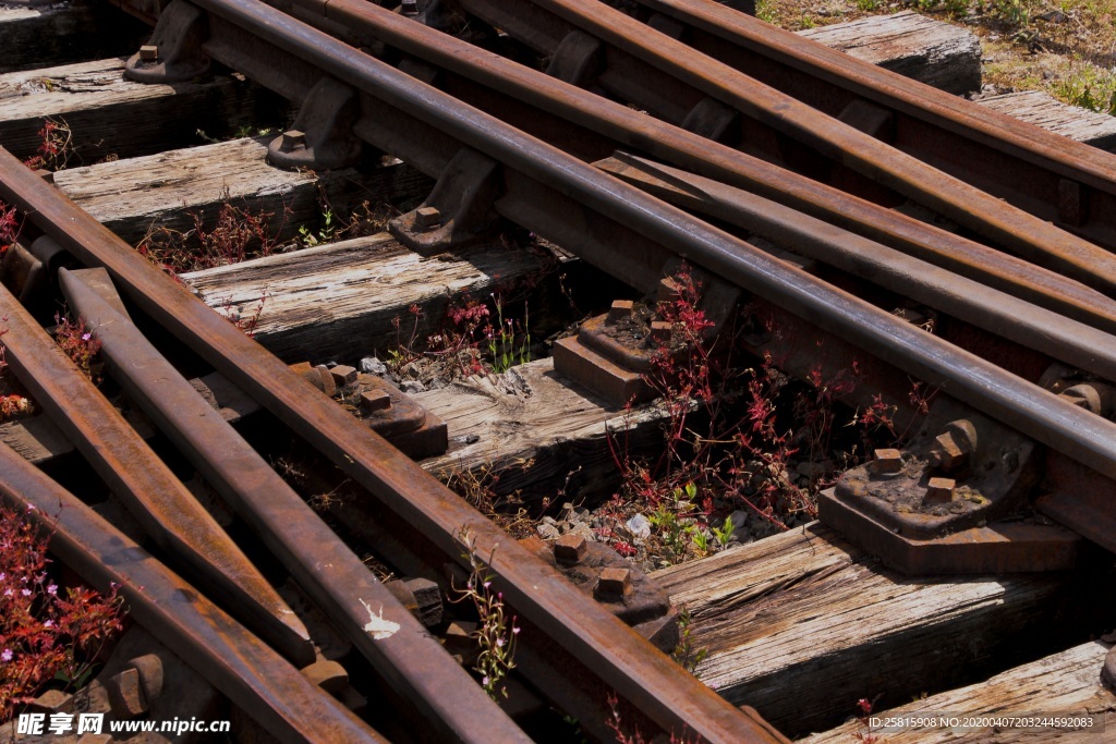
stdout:
POLYGON ((685 268, 674 280, 680 291, 658 312, 689 354, 660 348, 646 376, 666 414, 662 451, 633 454, 624 429, 610 434, 623 483, 596 520, 598 540, 645 568, 702 558, 816 518, 820 490, 876 441, 898 436, 894 407, 878 397, 850 426, 841 425, 838 399, 857 385, 855 365, 827 378, 819 363, 805 381, 793 380, 768 351, 752 367, 735 368, 729 350, 737 332, 761 323, 770 335, 771 321, 745 310, 738 331, 709 341, 700 284, 685 268))

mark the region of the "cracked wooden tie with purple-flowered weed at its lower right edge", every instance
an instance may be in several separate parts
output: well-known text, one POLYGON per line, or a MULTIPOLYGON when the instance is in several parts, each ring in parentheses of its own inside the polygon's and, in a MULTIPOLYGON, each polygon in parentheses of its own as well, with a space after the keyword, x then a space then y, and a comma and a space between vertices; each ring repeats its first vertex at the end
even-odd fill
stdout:
POLYGON ((182 274, 211 307, 251 317, 253 337, 289 361, 353 361, 374 350, 422 346, 462 294, 546 270, 552 259, 500 244, 423 258, 387 233, 182 274), (408 312, 421 308, 419 325, 408 312), (396 331, 394 319, 403 326, 396 331))

